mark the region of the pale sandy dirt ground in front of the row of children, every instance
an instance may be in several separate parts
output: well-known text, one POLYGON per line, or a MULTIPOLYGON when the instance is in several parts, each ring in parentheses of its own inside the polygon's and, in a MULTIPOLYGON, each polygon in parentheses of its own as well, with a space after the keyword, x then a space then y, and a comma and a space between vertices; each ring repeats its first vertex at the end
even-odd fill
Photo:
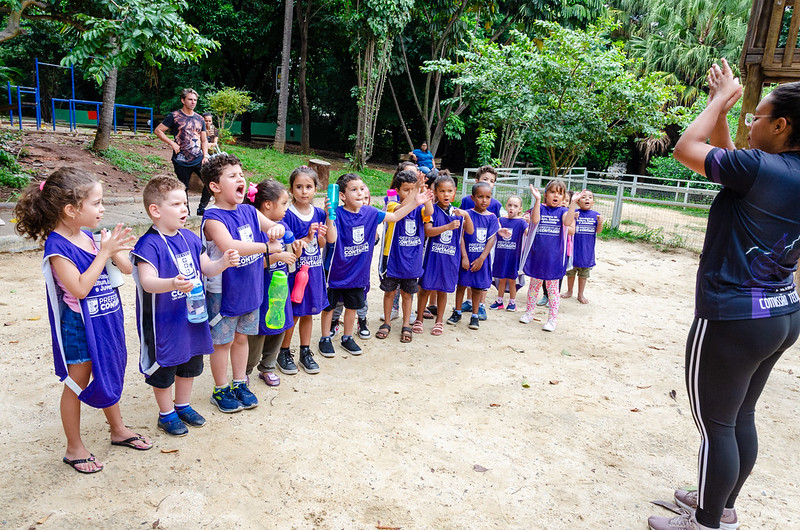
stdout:
MULTIPOLYGON (((426 321, 405 345, 395 321, 361 357, 318 356, 320 374, 276 389, 256 381, 261 404, 234 415, 209 403, 207 367, 194 405, 208 423, 183 438, 156 429, 129 279, 121 406, 155 447, 112 447, 84 408, 105 469, 80 475, 61 463, 41 255, 0 254, 0 527, 645 528, 669 514, 651 500, 696 481, 683 349, 697 257, 611 241, 598 258, 591 304, 564 300, 552 334, 490 312, 477 332, 433 337, 426 321)), ((377 289, 369 304, 374 333, 377 289)), ((761 399, 742 528, 800 528, 799 377, 793 347, 761 399)))

